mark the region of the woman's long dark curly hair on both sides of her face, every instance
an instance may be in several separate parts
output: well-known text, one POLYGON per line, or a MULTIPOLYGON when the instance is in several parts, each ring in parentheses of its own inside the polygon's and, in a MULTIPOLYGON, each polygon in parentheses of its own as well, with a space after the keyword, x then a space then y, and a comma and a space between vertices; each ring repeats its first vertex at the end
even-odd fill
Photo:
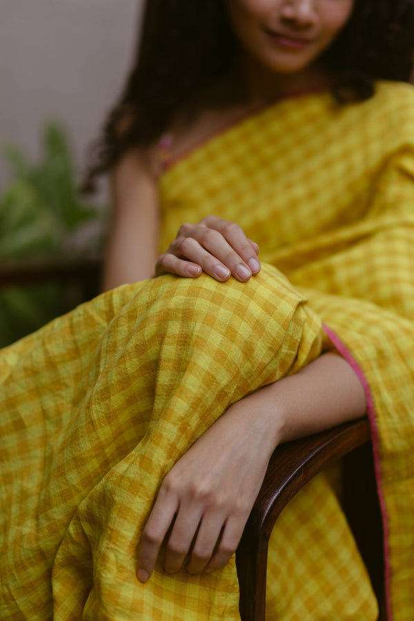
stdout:
MULTIPOLYGON (((152 144, 202 88, 225 76, 237 49, 224 0, 146 0, 137 60, 92 147, 83 190, 134 146, 152 144), (122 128, 122 130, 121 130, 122 128), (125 129, 126 128, 126 129, 125 129)), ((409 81, 414 0, 355 0, 350 20, 326 52, 339 103, 362 101, 376 79, 409 81)))

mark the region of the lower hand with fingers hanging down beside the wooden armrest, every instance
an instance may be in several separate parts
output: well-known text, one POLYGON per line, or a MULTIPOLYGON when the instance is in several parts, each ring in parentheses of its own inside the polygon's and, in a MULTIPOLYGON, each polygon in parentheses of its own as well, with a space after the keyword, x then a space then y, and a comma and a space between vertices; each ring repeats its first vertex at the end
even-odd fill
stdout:
MULTIPOLYGON (((274 414, 274 413, 273 413, 274 414)), ((137 575, 146 582, 161 544, 164 569, 224 566, 235 553, 275 448, 266 417, 234 404, 172 467, 145 526, 137 575)))

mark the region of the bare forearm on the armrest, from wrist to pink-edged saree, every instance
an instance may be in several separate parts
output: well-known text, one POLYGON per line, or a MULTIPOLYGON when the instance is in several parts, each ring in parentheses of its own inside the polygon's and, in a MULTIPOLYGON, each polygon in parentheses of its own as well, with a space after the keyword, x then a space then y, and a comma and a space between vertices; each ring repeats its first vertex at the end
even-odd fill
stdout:
POLYGON ((366 397, 348 362, 335 353, 326 353, 295 375, 261 388, 232 407, 248 407, 264 417, 269 442, 275 448, 363 416, 366 397))

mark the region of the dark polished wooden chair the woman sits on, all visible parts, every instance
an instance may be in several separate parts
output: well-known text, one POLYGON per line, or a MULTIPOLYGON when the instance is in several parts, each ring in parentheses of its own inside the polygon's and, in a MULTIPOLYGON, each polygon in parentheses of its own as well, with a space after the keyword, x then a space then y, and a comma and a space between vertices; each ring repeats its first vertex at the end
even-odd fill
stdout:
MULTIPOLYGON (((0 268, 0 287, 58 280, 75 286, 73 302, 97 293, 99 258, 0 268)), ((264 621, 268 540, 289 500, 327 466, 344 460, 344 511, 362 553, 380 608, 384 598, 382 531, 367 419, 278 446, 268 465, 236 553, 242 621, 264 621)), ((383 613, 382 613, 383 614, 383 613)), ((382 616, 380 616, 382 618, 382 616)))

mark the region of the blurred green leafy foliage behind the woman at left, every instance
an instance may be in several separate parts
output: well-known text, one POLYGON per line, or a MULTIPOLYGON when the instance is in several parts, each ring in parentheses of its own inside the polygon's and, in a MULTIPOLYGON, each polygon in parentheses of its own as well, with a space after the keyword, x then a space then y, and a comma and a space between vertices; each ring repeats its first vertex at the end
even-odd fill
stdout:
MULTIPOLYGON (((49 122, 43 132, 41 161, 33 164, 21 150, 8 147, 4 157, 12 181, 0 196, 0 261, 31 261, 77 255, 79 233, 92 223, 101 243, 105 211, 92 208, 77 188, 75 166, 63 128, 49 122)), ((90 241, 88 251, 90 251, 90 241)), ((56 284, 0 290, 0 347, 34 331, 63 312, 63 287, 56 284)))

